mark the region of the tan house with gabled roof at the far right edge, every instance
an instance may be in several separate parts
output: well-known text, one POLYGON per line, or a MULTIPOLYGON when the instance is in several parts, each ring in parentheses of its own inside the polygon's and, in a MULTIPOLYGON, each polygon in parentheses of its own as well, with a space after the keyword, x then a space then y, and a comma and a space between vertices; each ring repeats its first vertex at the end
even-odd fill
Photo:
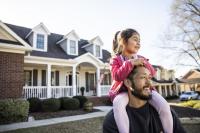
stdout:
POLYGON ((200 69, 192 69, 187 72, 181 79, 181 92, 199 91, 200 92, 200 69))

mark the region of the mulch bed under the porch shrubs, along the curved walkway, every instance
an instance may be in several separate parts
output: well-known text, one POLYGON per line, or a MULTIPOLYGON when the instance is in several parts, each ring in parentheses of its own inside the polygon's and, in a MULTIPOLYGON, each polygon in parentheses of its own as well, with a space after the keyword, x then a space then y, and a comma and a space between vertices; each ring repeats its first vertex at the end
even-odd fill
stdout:
POLYGON ((30 113, 30 116, 33 116, 35 120, 49 119, 49 118, 57 118, 57 117, 65 117, 65 116, 73 116, 73 115, 82 115, 92 112, 98 112, 100 110, 93 109, 92 111, 84 111, 83 109, 79 110, 61 110, 58 112, 35 112, 30 113))

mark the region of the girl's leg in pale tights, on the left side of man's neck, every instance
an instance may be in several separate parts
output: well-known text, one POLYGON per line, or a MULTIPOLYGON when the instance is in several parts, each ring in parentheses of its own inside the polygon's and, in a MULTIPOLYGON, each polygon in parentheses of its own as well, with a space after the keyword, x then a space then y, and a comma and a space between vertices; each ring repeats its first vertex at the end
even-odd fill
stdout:
POLYGON ((129 118, 126 112, 127 104, 128 94, 126 92, 118 94, 113 100, 114 118, 120 133, 129 133, 129 118))

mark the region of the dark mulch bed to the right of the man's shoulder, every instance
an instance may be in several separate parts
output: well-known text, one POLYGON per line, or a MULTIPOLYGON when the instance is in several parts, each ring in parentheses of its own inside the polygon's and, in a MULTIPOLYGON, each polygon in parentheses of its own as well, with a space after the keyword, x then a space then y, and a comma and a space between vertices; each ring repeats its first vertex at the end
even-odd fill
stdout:
POLYGON ((189 107, 171 106, 172 109, 177 113, 179 118, 182 117, 200 117, 200 110, 192 109, 189 107))

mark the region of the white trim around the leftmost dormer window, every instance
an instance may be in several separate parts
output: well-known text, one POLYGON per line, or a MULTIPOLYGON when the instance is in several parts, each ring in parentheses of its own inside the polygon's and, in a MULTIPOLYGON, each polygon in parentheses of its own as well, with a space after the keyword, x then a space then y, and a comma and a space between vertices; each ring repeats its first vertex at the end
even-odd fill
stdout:
POLYGON ((48 35, 47 34, 42 34, 42 33, 38 33, 38 32, 33 33, 33 48, 34 48, 34 50, 47 52, 47 43, 48 43, 48 35), (44 35, 44 49, 37 48, 37 34, 44 35))

